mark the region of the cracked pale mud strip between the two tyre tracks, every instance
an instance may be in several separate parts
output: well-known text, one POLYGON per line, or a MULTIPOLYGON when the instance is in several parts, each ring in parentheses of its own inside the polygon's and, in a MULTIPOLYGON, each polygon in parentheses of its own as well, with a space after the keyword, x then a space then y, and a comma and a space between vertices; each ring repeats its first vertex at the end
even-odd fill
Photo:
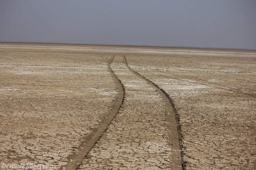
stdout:
POLYGON ((124 103, 79 169, 182 169, 173 159, 166 101, 121 55, 111 67, 124 85, 124 103))

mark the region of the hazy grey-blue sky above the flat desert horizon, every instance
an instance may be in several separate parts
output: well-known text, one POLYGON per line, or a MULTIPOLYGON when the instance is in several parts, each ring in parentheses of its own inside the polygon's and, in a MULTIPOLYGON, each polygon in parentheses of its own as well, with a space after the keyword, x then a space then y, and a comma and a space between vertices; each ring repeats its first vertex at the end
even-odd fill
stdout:
POLYGON ((0 0, 0 41, 256 49, 256 0, 0 0))

